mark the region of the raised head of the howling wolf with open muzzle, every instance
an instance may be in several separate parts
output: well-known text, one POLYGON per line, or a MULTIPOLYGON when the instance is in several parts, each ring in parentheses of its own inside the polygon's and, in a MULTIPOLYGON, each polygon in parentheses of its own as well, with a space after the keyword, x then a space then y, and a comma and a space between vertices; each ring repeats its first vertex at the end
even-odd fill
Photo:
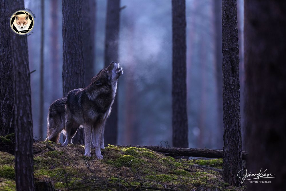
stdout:
POLYGON ((123 74, 122 68, 117 62, 111 62, 108 67, 103 68, 95 77, 92 83, 96 86, 116 86, 117 79, 123 74))

